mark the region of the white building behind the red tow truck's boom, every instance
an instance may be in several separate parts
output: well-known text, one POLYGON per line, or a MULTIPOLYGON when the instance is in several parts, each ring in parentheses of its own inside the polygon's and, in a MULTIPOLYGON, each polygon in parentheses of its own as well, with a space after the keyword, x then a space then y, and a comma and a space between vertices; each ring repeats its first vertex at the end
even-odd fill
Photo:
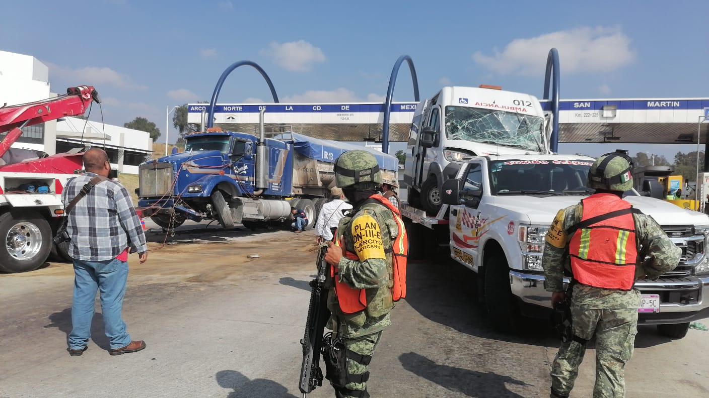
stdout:
MULTIPOLYGON (((35 57, 0 51, 0 106, 57 96, 50 89, 49 74, 49 67, 35 57)), ((65 89, 60 92, 65 93, 65 89)), ((125 174, 138 174, 138 164, 152 154, 152 140, 147 132, 91 121, 86 123, 78 118, 51 120, 22 130, 23 134, 12 147, 35 149, 50 155, 72 148, 104 148, 105 144, 111 163, 125 174)))

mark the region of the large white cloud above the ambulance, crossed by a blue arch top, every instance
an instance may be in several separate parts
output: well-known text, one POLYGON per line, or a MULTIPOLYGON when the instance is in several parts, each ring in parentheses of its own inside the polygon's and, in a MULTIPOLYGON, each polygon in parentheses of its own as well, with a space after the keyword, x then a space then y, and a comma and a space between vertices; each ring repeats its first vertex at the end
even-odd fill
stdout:
POLYGON ((630 42, 620 28, 581 27, 515 39, 492 56, 475 52, 473 60, 498 74, 537 76, 544 72, 547 54, 554 47, 564 73, 610 72, 635 61, 630 42))

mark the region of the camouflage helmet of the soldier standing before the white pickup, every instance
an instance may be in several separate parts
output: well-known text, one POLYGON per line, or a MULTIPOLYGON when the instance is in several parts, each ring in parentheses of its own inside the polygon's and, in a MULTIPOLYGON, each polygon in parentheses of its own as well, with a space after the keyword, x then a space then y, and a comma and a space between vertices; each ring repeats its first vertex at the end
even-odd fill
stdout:
POLYGON ((611 152, 596 159, 588 169, 588 187, 608 191, 632 188, 632 160, 627 155, 611 152))

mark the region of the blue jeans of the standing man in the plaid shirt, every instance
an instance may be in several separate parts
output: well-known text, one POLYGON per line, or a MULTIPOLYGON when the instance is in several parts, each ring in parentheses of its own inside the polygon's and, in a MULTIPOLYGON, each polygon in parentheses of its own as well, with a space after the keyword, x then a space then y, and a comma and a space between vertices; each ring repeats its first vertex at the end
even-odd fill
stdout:
POLYGON ((111 348, 128 346, 130 334, 125 331, 125 322, 121 315, 126 281, 127 261, 116 258, 108 261, 82 261, 74 258, 74 300, 69 348, 84 348, 91 337, 91 319, 94 317, 97 290, 101 292, 104 330, 111 341, 111 348))

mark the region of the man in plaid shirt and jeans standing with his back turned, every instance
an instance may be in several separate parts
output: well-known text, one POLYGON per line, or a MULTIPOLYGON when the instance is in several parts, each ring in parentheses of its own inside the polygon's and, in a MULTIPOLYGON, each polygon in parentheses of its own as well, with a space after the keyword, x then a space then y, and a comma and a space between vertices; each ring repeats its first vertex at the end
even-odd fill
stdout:
MULTIPOLYGON (((91 178, 108 178, 111 163, 101 149, 84 153, 86 173, 67 182, 62 193, 65 207, 91 178)), ((69 256, 74 258, 74 297, 69 355, 86 351, 91 336, 96 291, 101 291, 104 329, 111 341, 112 356, 145 348, 144 341, 132 341, 121 315, 125 283, 128 280, 128 252, 138 252, 140 263, 147 260, 145 234, 128 191, 118 181, 101 181, 71 210, 67 232, 71 237, 69 256)))

